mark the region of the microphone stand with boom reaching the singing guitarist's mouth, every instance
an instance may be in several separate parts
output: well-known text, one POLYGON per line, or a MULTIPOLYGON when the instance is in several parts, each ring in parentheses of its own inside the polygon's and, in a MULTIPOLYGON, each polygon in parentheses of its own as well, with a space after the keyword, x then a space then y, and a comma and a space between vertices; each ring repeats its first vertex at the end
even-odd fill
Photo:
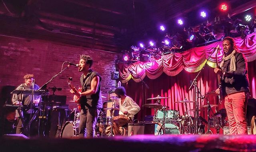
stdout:
MULTIPOLYGON (((65 62, 63 62, 63 64, 64 64, 65 62)), ((62 64, 62 67, 63 67, 63 64, 62 64)), ((45 97, 44 97, 44 99, 46 99, 46 88, 47 88, 47 85, 50 83, 50 82, 52 82, 52 80, 56 77, 56 76, 58 76, 58 75, 60 75, 64 70, 66 70, 67 68, 69 68, 70 67, 70 65, 68 65, 68 66, 66 66, 64 69, 61 69, 61 71, 59 72, 59 73, 57 73, 57 74, 55 74, 50 80, 48 80, 41 88, 39 88, 38 90, 44 90, 44 92, 45 92, 45 97)), ((43 119, 43 122, 42 123, 44 123, 44 113, 45 113, 45 103, 44 104, 42 104, 42 109, 40 109, 40 116, 42 117, 42 119, 43 119), (42 112, 42 109, 43 109, 43 112, 42 112)), ((46 118, 46 117, 45 117, 46 118)), ((40 128, 40 121, 41 121, 41 119, 39 119, 39 121, 38 121, 38 130, 39 130, 39 128, 40 128)), ((43 130, 43 129, 42 129, 43 130)), ((39 134, 39 131, 38 131, 38 134, 39 134)))

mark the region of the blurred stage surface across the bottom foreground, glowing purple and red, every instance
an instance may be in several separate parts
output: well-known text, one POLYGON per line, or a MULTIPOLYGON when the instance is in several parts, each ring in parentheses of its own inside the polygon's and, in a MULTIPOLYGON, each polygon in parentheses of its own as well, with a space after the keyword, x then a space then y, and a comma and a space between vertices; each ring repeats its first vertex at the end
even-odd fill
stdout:
POLYGON ((216 152, 256 151, 255 135, 136 135, 108 138, 3 136, 0 152, 216 152))

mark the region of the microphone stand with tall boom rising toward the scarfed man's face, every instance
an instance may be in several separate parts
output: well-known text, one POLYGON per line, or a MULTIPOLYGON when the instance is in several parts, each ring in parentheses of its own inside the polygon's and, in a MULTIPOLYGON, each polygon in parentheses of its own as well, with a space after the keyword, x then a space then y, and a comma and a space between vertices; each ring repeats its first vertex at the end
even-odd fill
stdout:
MULTIPOLYGON (((208 60, 210 59, 210 57, 212 56, 212 54, 215 52, 212 51, 211 55, 207 58, 204 66, 206 66, 208 60)), ((202 67, 202 69, 204 69, 204 66, 202 67)), ((199 76, 199 74, 201 73, 202 69, 198 72, 198 74, 196 75, 196 77, 194 78, 194 80, 192 81, 192 83, 190 84, 190 87, 188 88, 188 90, 190 90, 192 88, 192 86, 194 86, 194 99, 195 99, 195 109, 196 109, 196 115, 195 115, 195 120, 196 120, 196 134, 198 134, 198 117, 199 117, 199 101, 198 101, 198 95, 201 96, 202 95, 198 89, 198 85, 197 85, 197 77, 199 76)))

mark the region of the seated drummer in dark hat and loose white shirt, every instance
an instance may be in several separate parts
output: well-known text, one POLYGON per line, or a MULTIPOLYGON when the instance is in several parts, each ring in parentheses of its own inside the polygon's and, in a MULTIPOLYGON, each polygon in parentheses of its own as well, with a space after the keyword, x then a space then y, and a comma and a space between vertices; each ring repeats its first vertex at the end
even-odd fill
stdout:
MULTIPOLYGON (((115 99, 115 103, 119 105, 119 115, 113 117, 113 133, 114 135, 120 135, 119 127, 131 123, 134 119, 134 115, 140 111, 140 107, 131 97, 126 95, 124 87, 116 88, 115 94, 118 97, 115 99)), ((106 133, 110 131, 110 127, 108 127, 106 133)))

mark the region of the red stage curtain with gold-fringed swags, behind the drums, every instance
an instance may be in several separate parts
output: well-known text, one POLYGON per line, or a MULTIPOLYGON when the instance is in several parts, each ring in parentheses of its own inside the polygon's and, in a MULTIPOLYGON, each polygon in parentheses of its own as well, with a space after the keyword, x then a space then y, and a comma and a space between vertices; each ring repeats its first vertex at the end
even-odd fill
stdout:
MULTIPOLYGON (((235 39, 238 48, 246 56, 248 60, 248 76, 250 80, 250 94, 256 98, 256 33, 248 35, 246 39, 235 39)), ((127 95, 132 97, 141 107, 138 113, 139 121, 145 115, 153 115, 154 110, 142 107, 146 103, 155 103, 153 100, 145 100, 145 98, 156 97, 170 97, 169 99, 162 99, 161 103, 167 105, 169 109, 180 111, 180 115, 184 115, 186 108, 183 103, 174 103, 175 101, 182 101, 185 98, 194 101, 193 88, 188 90, 190 80, 193 80, 206 62, 206 58, 210 56, 212 47, 221 44, 221 42, 213 43, 208 46, 192 48, 183 53, 175 53, 166 55, 160 60, 152 60, 149 63, 136 62, 130 65, 119 63, 118 69, 120 78, 125 83, 127 95), (128 68, 134 69, 132 75, 128 72, 128 68), (184 69, 184 70, 183 70, 184 69), (140 76, 146 84, 150 87, 146 90, 145 86, 142 90, 142 82, 138 78, 140 76), (130 80, 132 78, 132 80, 130 80), (130 80, 130 81, 129 81, 130 80), (140 83, 137 83, 140 82, 140 83), (142 96, 144 92, 145 96, 142 96), (142 100, 144 97, 144 101, 142 100)), ((218 55, 219 62, 221 61, 222 52, 218 55)), ((200 73, 197 82, 202 95, 215 90, 217 88, 217 77, 213 71, 215 59, 214 55, 210 57, 210 62, 204 67, 200 73)), ((211 104, 218 104, 218 109, 213 108, 213 113, 224 108, 223 103, 218 103, 216 96, 210 95, 208 97, 211 104)), ((206 105, 206 99, 199 100, 199 105, 206 105)), ((188 109, 194 109, 194 104, 189 103, 188 109)), ((207 109, 206 109, 207 110, 207 109)), ((201 111, 200 115, 205 117, 206 110, 201 111)), ((194 115, 193 112, 190 112, 194 115)))

